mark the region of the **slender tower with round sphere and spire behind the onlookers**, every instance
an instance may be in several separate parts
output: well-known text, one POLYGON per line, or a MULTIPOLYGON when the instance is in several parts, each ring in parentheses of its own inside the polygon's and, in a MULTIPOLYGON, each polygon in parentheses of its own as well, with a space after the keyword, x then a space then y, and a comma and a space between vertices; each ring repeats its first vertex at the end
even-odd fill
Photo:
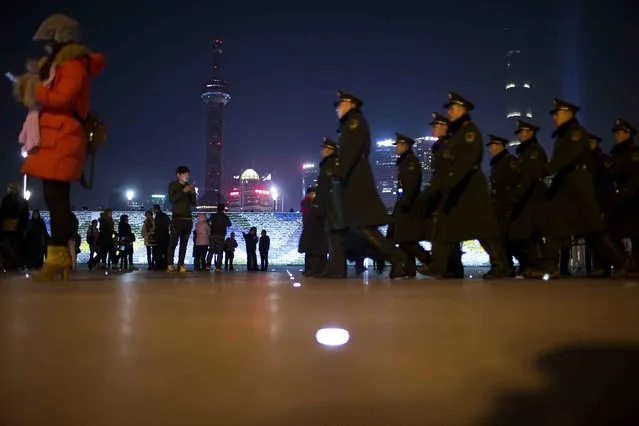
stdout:
POLYGON ((206 106, 205 192, 200 206, 224 202, 222 195, 222 129, 224 106, 231 100, 229 85, 222 78, 222 40, 213 45, 213 78, 202 86, 201 99, 206 106))

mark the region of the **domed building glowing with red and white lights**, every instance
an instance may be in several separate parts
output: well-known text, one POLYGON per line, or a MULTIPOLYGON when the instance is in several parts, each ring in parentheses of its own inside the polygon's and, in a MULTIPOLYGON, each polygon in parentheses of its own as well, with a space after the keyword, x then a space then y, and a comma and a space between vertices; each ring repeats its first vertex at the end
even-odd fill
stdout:
POLYGON ((229 211, 273 211, 270 183, 270 178, 261 179, 253 169, 246 169, 239 175, 233 176, 233 185, 226 197, 229 211))

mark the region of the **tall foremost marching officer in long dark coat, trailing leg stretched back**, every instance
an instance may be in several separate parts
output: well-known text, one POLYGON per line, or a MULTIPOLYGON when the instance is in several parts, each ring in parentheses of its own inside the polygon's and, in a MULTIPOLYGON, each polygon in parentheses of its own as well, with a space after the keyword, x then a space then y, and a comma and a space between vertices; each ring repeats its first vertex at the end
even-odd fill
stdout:
POLYGON ((338 208, 343 215, 342 225, 391 262, 391 278, 404 277, 407 256, 378 230, 379 226, 390 222, 390 217, 379 197, 368 162, 371 136, 361 111, 363 102, 345 91, 339 91, 337 95, 340 153, 333 180, 341 191, 338 208))

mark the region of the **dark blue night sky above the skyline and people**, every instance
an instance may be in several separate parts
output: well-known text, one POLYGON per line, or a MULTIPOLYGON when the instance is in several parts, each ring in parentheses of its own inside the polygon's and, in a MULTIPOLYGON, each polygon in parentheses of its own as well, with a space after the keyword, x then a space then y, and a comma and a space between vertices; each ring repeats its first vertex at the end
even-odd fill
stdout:
MULTIPOLYGON (((604 138, 606 150, 615 117, 639 126, 632 1, 350 1, 306 9, 304 2, 295 8, 217 3, 34 0, 3 8, 3 74, 21 73, 26 58, 40 55, 30 40, 55 12, 80 21, 86 44, 106 55, 107 67, 93 81, 92 107, 109 139, 99 153, 96 188, 75 188, 76 206, 107 205, 117 188, 164 193, 182 164, 203 182, 200 90, 211 75, 216 36, 224 42, 222 71, 232 89, 224 182, 244 167, 272 171, 286 208, 299 204, 302 162, 317 161, 321 137, 335 135, 332 103, 340 88, 364 100, 374 140, 394 132, 430 134, 430 113, 442 111, 450 90, 475 102, 473 118, 484 133, 511 137, 504 119, 505 26, 521 36, 532 121, 547 149, 555 96, 580 103, 582 122, 604 138)), ((9 82, 0 83, 0 182, 20 179, 17 134, 26 110, 10 93, 9 82)), ((40 188, 32 192, 41 205, 40 188)))

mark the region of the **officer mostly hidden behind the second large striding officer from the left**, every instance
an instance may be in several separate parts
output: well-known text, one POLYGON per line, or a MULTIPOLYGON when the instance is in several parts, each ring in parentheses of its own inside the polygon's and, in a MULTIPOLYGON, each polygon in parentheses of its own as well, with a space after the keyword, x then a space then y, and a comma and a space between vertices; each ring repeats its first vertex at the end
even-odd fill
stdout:
MULTIPOLYGON (((448 134, 448 126, 450 121, 448 118, 439 114, 437 112, 433 112, 433 121, 429 124, 431 126, 432 134, 437 140, 431 146, 431 167, 432 167, 432 175, 430 180, 437 179, 438 174, 440 173, 448 173, 448 162, 443 156, 442 148, 448 145, 450 141, 450 135, 448 134)), ((427 185, 429 185, 427 183, 427 185)), ((424 192, 424 197, 428 197, 428 191, 424 192)), ((443 203, 441 202, 441 196, 437 200, 431 200, 431 202, 426 202, 426 206, 431 206, 430 211, 426 211, 426 221, 425 221, 425 235, 426 240, 433 240, 433 235, 435 232, 435 225, 437 223, 437 211, 441 211, 443 207, 443 203)), ((461 279, 464 278, 464 264, 462 263, 462 246, 461 243, 454 244, 453 252, 450 254, 448 259, 448 268, 444 277, 446 278, 456 278, 461 279)))

